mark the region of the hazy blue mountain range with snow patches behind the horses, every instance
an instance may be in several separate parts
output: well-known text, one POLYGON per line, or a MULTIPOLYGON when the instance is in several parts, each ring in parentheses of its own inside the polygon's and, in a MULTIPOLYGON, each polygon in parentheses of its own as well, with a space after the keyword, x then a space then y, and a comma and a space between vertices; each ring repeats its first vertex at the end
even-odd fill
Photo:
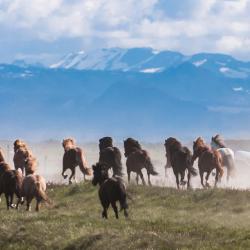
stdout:
POLYGON ((250 62, 151 48, 99 49, 49 67, 0 64, 0 137, 249 136, 250 62))

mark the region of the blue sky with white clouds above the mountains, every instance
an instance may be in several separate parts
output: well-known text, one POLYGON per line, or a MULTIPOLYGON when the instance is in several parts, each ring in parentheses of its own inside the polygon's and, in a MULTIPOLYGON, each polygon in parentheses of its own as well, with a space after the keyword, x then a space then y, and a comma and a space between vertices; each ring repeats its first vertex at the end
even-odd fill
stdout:
POLYGON ((0 0, 0 62, 152 47, 250 61, 250 0, 0 0))

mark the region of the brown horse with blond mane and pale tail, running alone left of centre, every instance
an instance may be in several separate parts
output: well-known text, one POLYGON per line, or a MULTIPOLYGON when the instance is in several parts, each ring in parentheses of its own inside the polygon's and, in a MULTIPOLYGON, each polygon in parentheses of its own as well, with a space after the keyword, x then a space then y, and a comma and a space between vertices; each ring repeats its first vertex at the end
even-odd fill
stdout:
POLYGON ((83 173, 84 180, 85 175, 91 175, 91 169, 87 167, 83 150, 79 147, 76 147, 75 143, 72 142, 72 139, 65 139, 62 143, 64 148, 62 176, 64 179, 66 179, 68 175, 64 174, 65 171, 67 169, 71 170, 69 184, 72 184, 72 178, 75 179, 75 168, 77 166, 79 166, 81 172, 83 173))

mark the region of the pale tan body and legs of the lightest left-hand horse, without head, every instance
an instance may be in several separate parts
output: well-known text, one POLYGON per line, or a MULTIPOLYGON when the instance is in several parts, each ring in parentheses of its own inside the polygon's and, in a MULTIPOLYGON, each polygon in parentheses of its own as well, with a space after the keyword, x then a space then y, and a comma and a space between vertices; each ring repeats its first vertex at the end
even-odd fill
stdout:
POLYGON ((36 211, 40 210, 42 201, 50 202, 46 194, 46 182, 40 175, 29 174, 24 177, 22 188, 22 197, 26 200, 26 210, 31 211, 31 202, 36 199, 36 211))

